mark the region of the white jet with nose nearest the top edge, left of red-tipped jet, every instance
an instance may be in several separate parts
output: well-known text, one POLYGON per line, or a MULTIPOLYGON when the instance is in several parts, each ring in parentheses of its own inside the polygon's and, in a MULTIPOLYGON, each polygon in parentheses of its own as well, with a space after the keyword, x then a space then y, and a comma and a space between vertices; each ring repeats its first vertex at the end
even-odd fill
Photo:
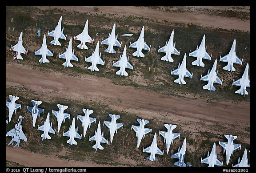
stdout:
POLYGON ((61 45, 59 42, 59 39, 64 39, 66 40, 67 35, 65 36, 63 34, 63 30, 64 28, 62 28, 61 30, 61 20, 62 20, 62 16, 60 16, 60 20, 58 22, 58 25, 55 27, 54 30, 52 30, 51 32, 48 31, 48 36, 54 37, 54 39, 51 41, 51 44, 54 45, 61 45))

